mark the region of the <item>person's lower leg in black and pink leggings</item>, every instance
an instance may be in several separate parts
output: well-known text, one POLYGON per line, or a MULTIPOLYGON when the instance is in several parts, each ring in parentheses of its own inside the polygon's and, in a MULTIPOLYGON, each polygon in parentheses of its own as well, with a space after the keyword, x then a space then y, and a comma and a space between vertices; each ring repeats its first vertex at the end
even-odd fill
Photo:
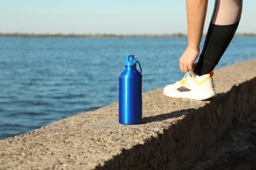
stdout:
POLYGON ((216 0, 202 53, 194 72, 213 71, 234 37, 242 14, 242 0, 216 0))

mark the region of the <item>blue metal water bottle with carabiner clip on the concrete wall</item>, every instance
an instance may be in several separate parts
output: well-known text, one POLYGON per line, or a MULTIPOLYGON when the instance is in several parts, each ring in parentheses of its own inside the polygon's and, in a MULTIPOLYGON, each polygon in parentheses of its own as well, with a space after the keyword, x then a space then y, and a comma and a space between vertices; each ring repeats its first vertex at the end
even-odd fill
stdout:
POLYGON ((134 55, 125 60, 125 70, 119 76, 119 123, 141 124, 142 122, 142 69, 134 55))

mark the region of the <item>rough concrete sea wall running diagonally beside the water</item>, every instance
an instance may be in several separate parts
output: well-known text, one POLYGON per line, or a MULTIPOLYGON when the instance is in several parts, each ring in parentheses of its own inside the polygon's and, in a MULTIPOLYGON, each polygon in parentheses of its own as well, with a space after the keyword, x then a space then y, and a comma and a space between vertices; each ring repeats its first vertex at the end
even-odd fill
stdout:
POLYGON ((218 96, 143 94, 143 123, 118 123, 118 103, 0 140, 0 169, 190 169, 256 110, 256 59, 215 71, 218 96))

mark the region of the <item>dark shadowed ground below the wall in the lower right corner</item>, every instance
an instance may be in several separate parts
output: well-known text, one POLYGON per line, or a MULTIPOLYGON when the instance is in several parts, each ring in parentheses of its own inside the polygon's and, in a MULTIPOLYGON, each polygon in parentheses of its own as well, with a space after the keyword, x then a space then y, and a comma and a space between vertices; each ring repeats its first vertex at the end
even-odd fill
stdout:
POLYGON ((193 170, 256 169, 256 112, 234 124, 193 170))

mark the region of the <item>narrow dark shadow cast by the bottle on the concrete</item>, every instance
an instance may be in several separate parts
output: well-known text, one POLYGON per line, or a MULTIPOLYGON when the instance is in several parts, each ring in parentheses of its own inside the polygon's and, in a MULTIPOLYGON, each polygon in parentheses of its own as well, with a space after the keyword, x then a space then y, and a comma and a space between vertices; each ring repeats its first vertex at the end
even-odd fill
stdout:
POLYGON ((189 114, 193 110, 195 110, 195 109, 184 109, 184 110, 179 110, 179 111, 175 111, 175 112, 158 114, 156 116, 149 116, 146 118, 142 118, 142 124, 148 124, 150 122, 158 122, 158 121, 167 120, 170 118, 178 118, 178 117, 189 114))

